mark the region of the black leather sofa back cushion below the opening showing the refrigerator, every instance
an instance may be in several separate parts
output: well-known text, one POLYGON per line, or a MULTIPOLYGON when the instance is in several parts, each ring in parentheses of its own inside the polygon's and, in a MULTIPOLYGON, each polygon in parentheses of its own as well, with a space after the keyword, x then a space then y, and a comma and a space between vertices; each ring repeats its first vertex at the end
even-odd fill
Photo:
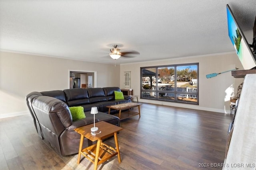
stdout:
POLYGON ((88 92, 84 88, 72 88, 63 91, 66 96, 66 103, 69 107, 90 104, 88 92))

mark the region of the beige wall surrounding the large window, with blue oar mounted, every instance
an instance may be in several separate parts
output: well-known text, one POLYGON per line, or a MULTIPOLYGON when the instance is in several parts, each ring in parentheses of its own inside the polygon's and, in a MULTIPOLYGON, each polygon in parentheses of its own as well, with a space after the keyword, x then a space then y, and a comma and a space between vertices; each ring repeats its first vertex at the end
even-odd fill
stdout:
POLYGON ((131 88, 133 89, 133 94, 140 96, 140 67, 185 63, 199 63, 199 106, 145 99, 139 99, 140 102, 230 113, 230 96, 233 95, 232 92, 236 94, 238 85, 242 83, 244 79, 233 78, 231 72, 219 74, 214 78, 208 79, 206 78, 206 74, 224 72, 236 67, 243 70, 236 53, 121 64, 120 88, 124 88, 123 73, 125 71, 131 71, 131 88))

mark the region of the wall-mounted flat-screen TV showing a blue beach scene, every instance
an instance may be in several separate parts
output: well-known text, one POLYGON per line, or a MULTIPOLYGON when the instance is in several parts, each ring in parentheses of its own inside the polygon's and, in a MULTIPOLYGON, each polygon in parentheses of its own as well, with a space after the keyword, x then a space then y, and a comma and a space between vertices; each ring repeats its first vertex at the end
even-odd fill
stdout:
POLYGON ((256 55, 252 52, 248 41, 246 40, 242 30, 236 22, 234 15, 227 6, 227 17, 228 17, 228 35, 231 42, 236 49, 236 54, 244 67, 244 70, 250 70, 256 68, 256 55))

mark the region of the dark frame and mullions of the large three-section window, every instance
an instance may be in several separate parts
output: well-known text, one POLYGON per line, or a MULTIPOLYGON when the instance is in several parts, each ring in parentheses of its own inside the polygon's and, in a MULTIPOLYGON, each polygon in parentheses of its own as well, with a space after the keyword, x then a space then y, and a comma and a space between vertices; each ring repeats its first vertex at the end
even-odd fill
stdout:
MULTIPOLYGON (((190 80, 192 81, 192 80, 190 80)), ((182 104, 192 104, 192 105, 199 105, 199 63, 186 63, 186 64, 171 64, 171 65, 158 65, 158 66, 146 66, 146 67, 140 67, 140 98, 141 99, 146 99, 146 100, 156 100, 156 101, 164 101, 164 102, 174 102, 174 103, 182 103, 182 104), (177 91, 177 67, 178 66, 197 66, 197 86, 196 86, 196 92, 181 92, 181 91, 177 91), (158 69, 159 68, 164 68, 164 67, 174 67, 174 89, 172 90, 158 90, 158 69), (155 90, 151 90, 151 89, 143 89, 143 80, 142 80, 142 70, 143 69, 152 69, 155 68, 156 69, 156 88, 155 90), (174 94, 174 100, 166 100, 166 99, 161 99, 159 98, 159 93, 165 93, 165 94, 174 94), (143 97, 146 96, 145 94, 150 94, 150 93, 155 93, 155 98, 147 98, 147 97, 143 97), (196 102, 190 102, 190 101, 182 101, 182 100, 178 100, 178 96, 177 94, 182 94, 182 95, 195 95, 196 96, 196 102)))

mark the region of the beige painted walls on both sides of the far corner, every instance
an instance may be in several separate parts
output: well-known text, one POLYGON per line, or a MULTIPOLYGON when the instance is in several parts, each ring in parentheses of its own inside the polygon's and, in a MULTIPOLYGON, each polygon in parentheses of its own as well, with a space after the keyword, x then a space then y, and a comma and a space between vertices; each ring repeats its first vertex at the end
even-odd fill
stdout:
POLYGON ((131 71, 131 88, 134 90, 134 95, 140 96, 140 67, 184 63, 199 63, 199 106, 139 99, 140 102, 230 113, 229 97, 233 95, 232 92, 236 93, 238 85, 244 79, 233 78, 231 72, 210 79, 206 78, 206 74, 236 67, 241 69, 242 65, 235 53, 114 66, 1 51, 0 117, 27 114, 25 96, 30 92, 67 89, 68 70, 96 71, 97 87, 120 86, 120 88, 124 88, 124 71, 131 71))

